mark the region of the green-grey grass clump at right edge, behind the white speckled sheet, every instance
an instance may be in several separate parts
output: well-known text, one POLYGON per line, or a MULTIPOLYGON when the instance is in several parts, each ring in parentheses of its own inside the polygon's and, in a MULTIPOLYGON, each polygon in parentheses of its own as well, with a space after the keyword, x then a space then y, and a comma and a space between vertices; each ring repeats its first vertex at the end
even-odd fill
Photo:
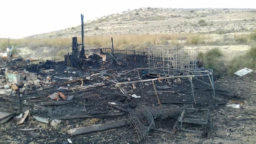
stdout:
POLYGON ((234 72, 243 68, 254 69, 256 68, 256 46, 252 46, 245 54, 234 57, 228 63, 228 74, 234 75, 234 72))

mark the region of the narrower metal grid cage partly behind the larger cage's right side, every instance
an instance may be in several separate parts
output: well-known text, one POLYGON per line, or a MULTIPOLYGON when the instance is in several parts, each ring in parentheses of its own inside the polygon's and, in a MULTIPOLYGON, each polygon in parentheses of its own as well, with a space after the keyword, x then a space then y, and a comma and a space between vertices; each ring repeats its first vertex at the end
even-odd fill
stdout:
POLYGON ((198 61, 196 60, 196 54, 195 49, 184 49, 185 57, 184 57, 184 63, 185 63, 185 70, 190 70, 193 72, 190 72, 191 74, 195 74, 195 69, 197 67, 198 61))

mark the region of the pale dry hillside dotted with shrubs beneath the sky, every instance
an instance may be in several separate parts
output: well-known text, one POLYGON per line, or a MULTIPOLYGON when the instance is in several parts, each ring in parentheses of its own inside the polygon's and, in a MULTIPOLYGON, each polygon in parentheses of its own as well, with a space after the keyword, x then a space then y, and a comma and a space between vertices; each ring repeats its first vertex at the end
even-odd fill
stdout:
MULTIPOLYGON (((84 25, 85 36, 118 34, 167 34, 216 32, 246 32, 255 28, 255 9, 173 9, 140 8, 121 14, 103 16, 84 25)), ((81 36, 81 25, 28 38, 58 38, 81 36)))

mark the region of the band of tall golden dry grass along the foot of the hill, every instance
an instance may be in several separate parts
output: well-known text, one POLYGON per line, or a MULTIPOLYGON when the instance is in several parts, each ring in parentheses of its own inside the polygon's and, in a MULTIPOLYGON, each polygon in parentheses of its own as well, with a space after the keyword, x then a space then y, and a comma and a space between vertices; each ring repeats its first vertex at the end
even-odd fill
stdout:
MULTIPOLYGON (((84 45, 86 48, 102 47, 111 48, 113 37, 115 49, 135 49, 144 51, 148 46, 155 45, 198 45, 204 44, 206 37, 200 34, 141 34, 141 35, 103 35, 86 36, 84 45)), ((38 47, 54 47, 68 49, 71 47, 72 38, 23 38, 10 39, 10 45, 14 47, 28 47, 31 50, 38 47)), ((78 37, 81 43, 81 37, 78 37)), ((8 47, 8 39, 0 39, 0 49, 8 47)))

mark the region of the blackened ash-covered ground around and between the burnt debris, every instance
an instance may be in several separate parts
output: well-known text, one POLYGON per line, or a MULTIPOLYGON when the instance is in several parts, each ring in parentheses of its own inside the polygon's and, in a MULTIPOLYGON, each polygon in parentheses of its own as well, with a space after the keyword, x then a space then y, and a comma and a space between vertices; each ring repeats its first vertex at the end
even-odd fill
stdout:
MULTIPOLYGON (((92 115, 93 113, 115 113, 113 110, 118 109, 108 106, 108 102, 120 102, 121 107, 132 110, 138 105, 154 105, 157 107, 156 96, 154 94, 147 93, 148 91, 154 91, 151 83, 144 82, 135 83, 136 89, 130 84, 123 85, 128 94, 136 94, 141 98, 132 98, 132 101, 126 101, 126 97, 114 95, 114 94, 102 94, 102 93, 115 93, 122 94, 119 88, 116 88, 115 84, 101 79, 99 76, 109 76, 113 74, 120 74, 122 71, 129 71, 135 68, 145 68, 146 63, 132 62, 132 66, 119 66, 110 65, 110 63, 97 63, 92 65, 93 68, 87 70, 69 69, 63 62, 52 62, 48 66, 54 69, 54 72, 41 73, 41 77, 47 77, 51 75, 53 80, 56 80, 54 87, 45 88, 44 91, 36 92, 36 87, 31 90, 25 91, 22 97, 22 101, 26 100, 26 105, 23 103, 23 109, 31 109, 31 115, 50 117, 50 120, 58 116, 84 116, 92 115), (105 68, 102 66, 105 65, 105 68), (66 71, 66 72, 64 72, 66 71), (68 72, 70 71, 70 73, 68 72), (76 72, 73 74, 72 72, 76 72), (58 79, 58 77, 79 77, 79 76, 93 75, 90 80, 85 79, 83 85, 90 85, 93 83, 105 83, 103 86, 96 87, 93 90, 84 91, 80 93, 74 93, 73 91, 65 91, 57 89, 60 86, 73 87, 75 85, 81 85, 80 82, 61 85, 65 82, 65 79, 58 79), (54 78, 57 77, 57 78, 54 78), (146 85, 145 85, 146 84, 146 85), (69 104, 60 106, 46 106, 44 109, 33 107, 35 104, 42 102, 55 101, 46 98, 48 95, 54 92, 61 91, 66 96, 74 96, 69 104), (25 99, 28 97, 39 97, 37 99, 25 99), (30 106, 28 106, 30 105, 30 106)), ((137 74, 134 72, 127 75, 117 77, 119 82, 127 82, 128 78, 132 81, 139 80, 137 74)), ((150 79, 152 77, 143 77, 143 79, 150 79)), ((52 127, 50 124, 42 123, 35 119, 25 120, 22 125, 16 125, 16 118, 13 117, 7 123, 1 124, 1 143, 68 143, 67 139, 71 139, 73 143, 255 143, 255 106, 254 106, 254 94, 255 94, 255 73, 248 74, 242 77, 220 77, 215 80, 216 90, 222 90, 227 92, 216 91, 216 100, 213 99, 210 86, 202 84, 199 81, 193 80, 195 86, 195 98, 197 105, 194 108, 208 108, 210 109, 210 119, 213 121, 213 131, 210 139, 207 139, 204 134, 191 133, 178 131, 174 135, 165 132, 159 132, 156 130, 150 130, 148 133, 149 140, 138 140, 137 132, 134 125, 109 129, 105 131, 98 131, 89 134, 70 136, 67 130, 76 127, 84 127, 94 124, 104 124, 111 121, 128 119, 128 113, 122 113, 120 116, 110 118, 79 118, 62 120, 61 124, 57 127, 52 127), (228 100, 236 100, 242 102, 241 108, 230 108, 226 105, 220 105, 227 103, 228 100), (201 105, 201 106, 200 106, 201 105), (39 128, 32 131, 20 131, 18 129, 24 128, 39 128)), ((205 79, 205 82, 209 82, 205 79)), ((162 81, 155 81, 156 86, 169 86, 162 81)), ((172 88, 166 91, 175 91, 177 93, 163 93, 159 94, 159 99, 163 105, 171 105, 170 103, 177 104, 179 107, 193 105, 193 97, 191 94, 190 82, 185 81, 182 84, 172 84, 172 88), (182 92, 182 93, 179 93, 182 92), (164 104, 164 102, 166 102, 164 104), (186 104, 182 104, 186 103, 186 104)), ((160 91, 160 90, 159 90, 160 91)), ((7 96, 5 96, 7 97, 7 96)), ((17 100, 15 96, 8 96, 17 100)), ((63 101, 61 99, 60 101, 63 101)), ((19 104, 17 102, 7 101, 6 98, 1 97, 1 107, 9 107, 9 109, 17 109, 19 104)), ((93 117, 93 115, 92 115, 93 117)), ((172 131, 173 126, 177 120, 176 117, 168 117, 165 119, 155 119, 156 128, 172 131)))

